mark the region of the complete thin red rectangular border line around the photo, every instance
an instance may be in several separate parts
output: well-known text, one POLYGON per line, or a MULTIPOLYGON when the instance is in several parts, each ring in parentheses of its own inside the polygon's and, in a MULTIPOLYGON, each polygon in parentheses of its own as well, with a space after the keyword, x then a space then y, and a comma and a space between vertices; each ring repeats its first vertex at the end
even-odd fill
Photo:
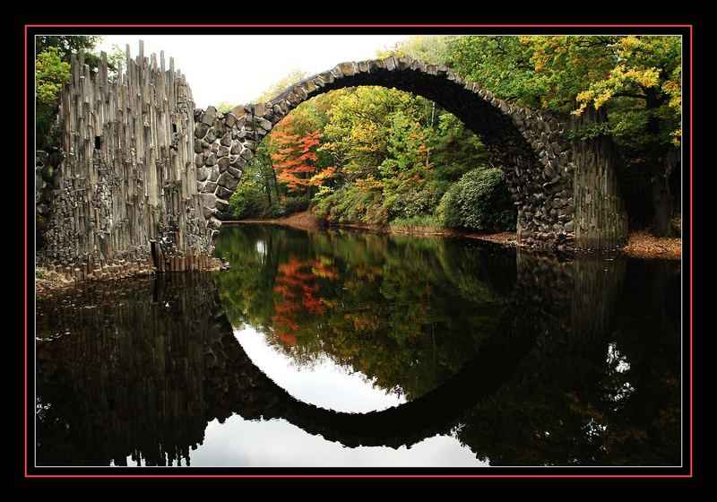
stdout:
MULTIPOLYGON (((274 28, 315 28, 315 27, 327 27, 327 28, 368 28, 368 27, 382 27, 382 28, 432 28, 432 27, 455 27, 455 28, 529 28, 529 27, 547 27, 547 28, 689 28, 689 474, 411 474, 411 475, 392 475, 392 474, 353 474, 353 475, 331 475, 331 474, 188 474, 191 477, 200 478, 257 478, 257 477, 280 477, 280 478, 294 478, 294 477, 316 477, 316 478, 333 478, 333 477, 349 477, 349 478, 466 478, 466 477, 513 477, 513 478, 692 478, 693 477, 693 402, 692 402, 692 376, 693 376, 693 364, 692 364, 692 91, 693 91, 693 25, 692 24, 401 24, 401 25, 383 25, 383 24, 26 24, 25 25, 25 276, 28 273, 28 28, 107 28, 107 27, 123 27, 123 28, 157 28, 166 26, 169 28, 177 27, 274 27, 274 28)), ((28 474, 28 284, 25 281, 25 477, 26 478, 101 478, 110 477, 109 474, 28 474)), ((124 477, 140 477, 140 478, 154 478, 154 477, 177 477, 187 476, 186 474, 117 474, 118 476, 124 477)))

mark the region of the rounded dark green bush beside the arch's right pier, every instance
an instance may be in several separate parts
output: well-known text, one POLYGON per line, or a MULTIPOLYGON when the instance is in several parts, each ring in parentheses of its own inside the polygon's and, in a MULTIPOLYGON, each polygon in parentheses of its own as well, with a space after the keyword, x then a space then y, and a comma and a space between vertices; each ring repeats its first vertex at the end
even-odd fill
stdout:
POLYGON ((501 169, 481 167, 464 174, 438 205, 446 227, 483 231, 515 229, 515 209, 501 169))

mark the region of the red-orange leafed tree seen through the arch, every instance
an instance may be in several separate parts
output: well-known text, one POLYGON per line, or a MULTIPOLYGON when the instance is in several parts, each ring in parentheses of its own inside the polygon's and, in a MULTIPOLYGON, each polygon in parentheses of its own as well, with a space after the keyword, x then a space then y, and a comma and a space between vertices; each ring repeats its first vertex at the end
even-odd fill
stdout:
POLYGON ((276 179, 287 186, 289 192, 306 190, 313 185, 312 177, 318 173, 315 146, 322 134, 315 130, 305 135, 298 134, 294 117, 286 117, 274 129, 272 140, 279 146, 272 153, 276 179))

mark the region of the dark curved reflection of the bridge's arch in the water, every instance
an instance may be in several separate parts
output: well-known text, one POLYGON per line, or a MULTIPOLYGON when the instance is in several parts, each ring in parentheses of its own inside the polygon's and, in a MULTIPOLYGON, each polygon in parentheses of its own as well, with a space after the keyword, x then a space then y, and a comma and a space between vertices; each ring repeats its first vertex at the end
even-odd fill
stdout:
POLYGON ((220 369, 220 379, 212 382, 215 392, 206 393, 214 400, 208 403, 211 418, 229 417, 232 412, 245 419, 283 418, 309 434, 344 446, 410 446, 447 432, 462 411, 505 383, 532 341, 531 336, 509 332, 494 336, 457 374, 428 394, 382 411, 347 413, 319 408, 291 396, 255 366, 231 330, 225 319, 220 360, 226 362, 220 369), (249 387, 247 382, 251 382, 249 387))

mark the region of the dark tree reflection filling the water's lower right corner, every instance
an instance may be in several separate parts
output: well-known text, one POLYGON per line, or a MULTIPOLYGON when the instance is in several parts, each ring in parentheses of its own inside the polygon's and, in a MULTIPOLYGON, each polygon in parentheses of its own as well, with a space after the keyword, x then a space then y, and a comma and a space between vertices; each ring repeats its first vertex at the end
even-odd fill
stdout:
POLYGON ((592 309, 572 309, 560 329, 545 326, 520 375, 461 419, 458 437, 479 458, 493 465, 679 463, 679 318, 652 316, 649 304, 665 290, 644 289, 648 277, 675 264, 630 262, 627 272, 625 265, 569 264, 567 303, 589 299, 592 309))

